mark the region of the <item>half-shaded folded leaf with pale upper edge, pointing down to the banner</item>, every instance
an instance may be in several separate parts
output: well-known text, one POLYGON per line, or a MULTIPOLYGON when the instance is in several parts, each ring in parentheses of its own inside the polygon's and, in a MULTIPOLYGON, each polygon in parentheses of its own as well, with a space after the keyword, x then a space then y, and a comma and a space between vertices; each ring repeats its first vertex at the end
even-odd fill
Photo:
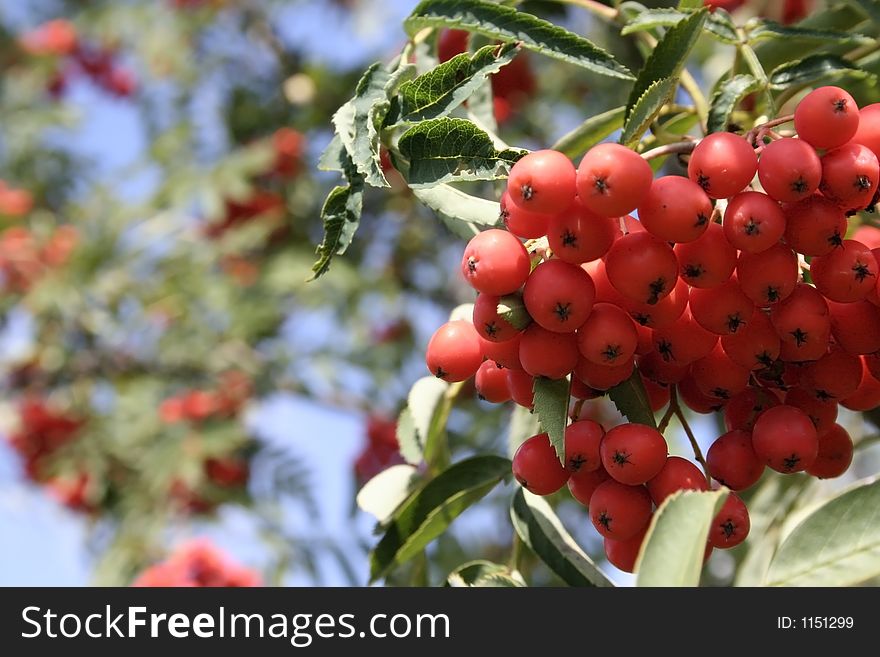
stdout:
POLYGON ((510 505, 510 519, 522 542, 569 586, 614 586, 544 498, 520 488, 510 505))

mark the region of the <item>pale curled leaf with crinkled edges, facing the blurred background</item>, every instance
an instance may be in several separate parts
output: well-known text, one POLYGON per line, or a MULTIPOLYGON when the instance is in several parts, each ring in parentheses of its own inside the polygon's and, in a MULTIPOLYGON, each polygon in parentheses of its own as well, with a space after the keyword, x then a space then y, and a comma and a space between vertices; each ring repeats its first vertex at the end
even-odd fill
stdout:
MULTIPOLYGON (((333 126, 358 173, 367 184, 389 187, 379 161, 379 130, 374 122, 380 106, 387 112, 385 86, 391 73, 380 62, 370 66, 358 82, 354 98, 336 110, 333 126)), ((381 122, 380 122, 381 123, 381 122)))

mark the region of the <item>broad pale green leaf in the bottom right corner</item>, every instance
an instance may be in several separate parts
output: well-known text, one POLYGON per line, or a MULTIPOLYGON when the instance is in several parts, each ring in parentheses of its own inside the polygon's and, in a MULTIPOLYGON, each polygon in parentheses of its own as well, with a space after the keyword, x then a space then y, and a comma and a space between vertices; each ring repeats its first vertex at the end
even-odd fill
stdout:
POLYGON ((852 586, 880 575, 880 481, 821 506, 782 543, 769 586, 852 586))

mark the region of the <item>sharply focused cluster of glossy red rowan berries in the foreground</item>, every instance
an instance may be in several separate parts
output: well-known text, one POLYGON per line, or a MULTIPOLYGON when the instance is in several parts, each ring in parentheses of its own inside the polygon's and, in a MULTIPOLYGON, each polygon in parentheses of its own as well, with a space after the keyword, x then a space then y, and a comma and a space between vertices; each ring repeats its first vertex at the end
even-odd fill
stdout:
MULTIPOLYGON (((728 432, 705 459, 719 484, 743 490, 765 467, 841 475, 853 445, 838 405, 880 404, 880 230, 848 219, 877 202, 880 104, 859 111, 823 87, 797 106, 796 137, 773 130, 790 120, 694 142, 688 177, 655 179, 612 143, 577 169, 551 150, 520 159, 501 199, 506 230, 474 237, 461 261, 479 293, 473 322, 437 330, 430 371, 531 407, 536 377, 570 376, 571 395, 589 399, 635 365, 655 412, 671 393, 723 411, 728 432)), ((575 421, 565 456, 534 436, 514 473, 541 495, 567 483, 624 570, 665 497, 710 486, 648 426, 575 421)), ((707 554, 748 531, 732 493, 707 554)))

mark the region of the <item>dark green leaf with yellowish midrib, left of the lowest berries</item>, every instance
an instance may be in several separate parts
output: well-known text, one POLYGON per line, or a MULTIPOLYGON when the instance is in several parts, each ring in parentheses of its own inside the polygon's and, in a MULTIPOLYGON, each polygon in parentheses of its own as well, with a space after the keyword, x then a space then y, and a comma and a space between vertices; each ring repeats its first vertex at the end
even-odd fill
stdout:
POLYGON ((510 475, 510 461, 475 456, 441 472, 412 493, 394 512, 385 534, 370 554, 370 581, 408 561, 465 509, 510 475))

